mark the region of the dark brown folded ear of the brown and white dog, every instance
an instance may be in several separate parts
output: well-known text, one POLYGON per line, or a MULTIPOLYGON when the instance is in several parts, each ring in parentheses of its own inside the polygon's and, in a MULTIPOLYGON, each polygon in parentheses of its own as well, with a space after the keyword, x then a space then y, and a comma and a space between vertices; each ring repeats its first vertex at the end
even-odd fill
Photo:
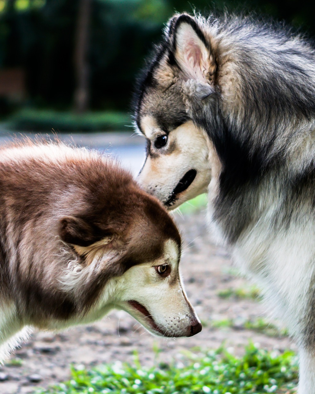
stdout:
POLYGON ((83 247, 87 247, 103 238, 109 241, 111 239, 109 232, 105 233, 98 226, 75 216, 65 216, 60 220, 59 237, 64 242, 83 247))

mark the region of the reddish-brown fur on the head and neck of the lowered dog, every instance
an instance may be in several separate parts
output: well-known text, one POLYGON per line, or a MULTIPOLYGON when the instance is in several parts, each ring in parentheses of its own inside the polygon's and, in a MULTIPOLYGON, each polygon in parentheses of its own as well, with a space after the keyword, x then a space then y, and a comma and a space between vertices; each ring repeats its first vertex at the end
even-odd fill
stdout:
POLYGON ((180 247, 165 209, 108 158, 62 144, 0 150, 0 299, 24 324, 83 316, 109 279, 159 258, 169 238, 180 247), (69 261, 85 266, 97 253, 104 267, 63 289, 69 261))

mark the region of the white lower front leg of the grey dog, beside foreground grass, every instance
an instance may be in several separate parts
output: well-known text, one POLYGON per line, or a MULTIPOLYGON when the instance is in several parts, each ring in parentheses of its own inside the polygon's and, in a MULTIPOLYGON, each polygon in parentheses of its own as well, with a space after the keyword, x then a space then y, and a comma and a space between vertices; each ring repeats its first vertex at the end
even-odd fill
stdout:
POLYGON ((315 349, 300 348, 298 394, 315 393, 315 349))

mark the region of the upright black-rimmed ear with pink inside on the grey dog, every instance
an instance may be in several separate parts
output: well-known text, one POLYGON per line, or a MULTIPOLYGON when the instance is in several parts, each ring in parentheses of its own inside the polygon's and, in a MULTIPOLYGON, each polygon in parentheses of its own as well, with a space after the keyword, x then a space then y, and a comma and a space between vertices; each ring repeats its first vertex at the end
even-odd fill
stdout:
POLYGON ((214 59, 210 44, 195 19, 187 14, 174 17, 169 23, 172 35, 172 55, 184 76, 202 84, 209 83, 214 59))

